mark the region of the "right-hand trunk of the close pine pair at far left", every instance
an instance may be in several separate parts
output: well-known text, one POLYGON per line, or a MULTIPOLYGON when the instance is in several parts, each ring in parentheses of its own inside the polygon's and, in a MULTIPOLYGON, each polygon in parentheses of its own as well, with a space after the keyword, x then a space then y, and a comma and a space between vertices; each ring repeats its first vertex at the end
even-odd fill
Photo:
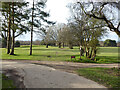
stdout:
POLYGON ((12 9, 13 9, 13 16, 12 16, 12 20, 13 20, 13 27, 12 27, 12 45, 11 45, 11 53, 10 55, 14 55, 14 44, 15 44, 15 30, 14 30, 14 2, 13 2, 13 5, 12 5, 12 9))

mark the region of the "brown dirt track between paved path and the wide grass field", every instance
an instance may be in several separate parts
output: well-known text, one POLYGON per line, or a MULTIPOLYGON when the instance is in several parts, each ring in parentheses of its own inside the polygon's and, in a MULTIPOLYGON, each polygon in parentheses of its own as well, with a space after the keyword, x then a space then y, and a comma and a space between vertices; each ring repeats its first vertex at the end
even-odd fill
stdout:
POLYGON ((52 67, 52 68, 55 68, 58 70, 66 71, 69 73, 75 73, 75 74, 77 74, 76 70, 78 70, 80 68, 91 68, 91 67, 113 68, 113 67, 118 67, 117 63, 114 63, 114 64, 95 64, 95 63, 76 63, 76 62, 67 62, 67 61, 38 61, 38 60, 7 60, 7 61, 31 63, 31 64, 36 64, 36 65, 44 65, 44 66, 52 67))

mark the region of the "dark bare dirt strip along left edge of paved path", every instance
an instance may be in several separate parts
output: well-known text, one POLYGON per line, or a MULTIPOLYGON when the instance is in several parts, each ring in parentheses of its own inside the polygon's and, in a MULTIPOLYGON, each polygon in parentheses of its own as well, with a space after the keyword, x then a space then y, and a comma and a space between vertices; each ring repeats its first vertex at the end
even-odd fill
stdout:
POLYGON ((2 73, 5 74, 5 76, 7 76, 10 80, 13 80, 13 83, 17 88, 25 88, 23 84, 24 77, 20 76, 16 70, 5 69, 2 73))

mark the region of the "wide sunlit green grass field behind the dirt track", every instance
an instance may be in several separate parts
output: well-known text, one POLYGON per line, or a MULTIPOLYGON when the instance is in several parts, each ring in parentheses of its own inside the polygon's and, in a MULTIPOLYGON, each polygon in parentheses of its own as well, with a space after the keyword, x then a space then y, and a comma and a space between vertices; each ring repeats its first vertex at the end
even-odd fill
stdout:
POLYGON ((118 60, 118 47, 100 47, 97 54, 97 61, 92 61, 86 57, 79 60, 79 48, 74 49, 45 46, 33 46, 33 55, 29 55, 29 46, 21 46, 15 48, 15 55, 7 55, 5 48, 2 50, 2 59, 16 59, 16 60, 47 60, 47 61, 71 61, 71 56, 76 56, 74 62, 90 62, 90 63, 120 63, 118 60))

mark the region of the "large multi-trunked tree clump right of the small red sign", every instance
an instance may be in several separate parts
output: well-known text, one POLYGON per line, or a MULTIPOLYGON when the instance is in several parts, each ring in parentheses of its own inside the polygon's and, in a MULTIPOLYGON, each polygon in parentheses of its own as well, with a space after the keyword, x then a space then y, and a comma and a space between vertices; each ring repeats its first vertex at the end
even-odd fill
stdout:
POLYGON ((98 40, 106 33, 104 22, 87 17, 78 3, 71 4, 70 9, 72 12, 70 23, 74 38, 76 38, 76 42, 79 45, 80 59, 85 52, 86 57, 94 60, 97 53, 98 40))

